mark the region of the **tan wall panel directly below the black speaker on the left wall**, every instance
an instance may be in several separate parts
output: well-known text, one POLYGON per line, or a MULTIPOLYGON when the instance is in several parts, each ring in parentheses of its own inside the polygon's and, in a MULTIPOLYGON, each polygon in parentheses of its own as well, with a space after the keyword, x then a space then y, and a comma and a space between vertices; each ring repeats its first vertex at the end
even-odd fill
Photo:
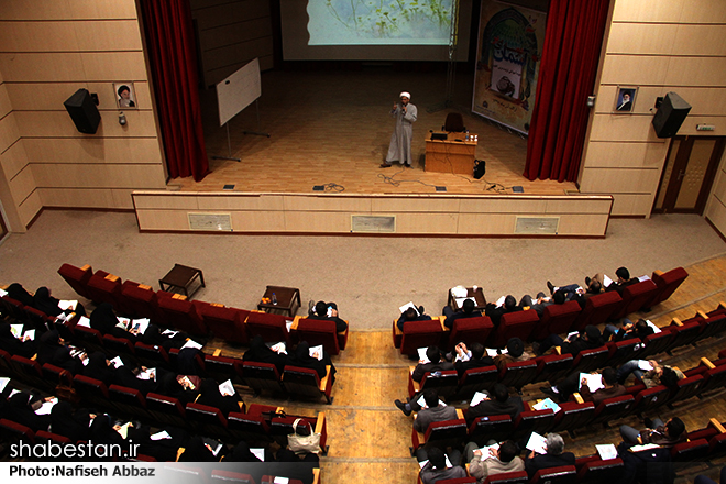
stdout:
POLYGON ((156 138, 25 138, 20 143, 35 163, 158 165, 162 156, 156 138))

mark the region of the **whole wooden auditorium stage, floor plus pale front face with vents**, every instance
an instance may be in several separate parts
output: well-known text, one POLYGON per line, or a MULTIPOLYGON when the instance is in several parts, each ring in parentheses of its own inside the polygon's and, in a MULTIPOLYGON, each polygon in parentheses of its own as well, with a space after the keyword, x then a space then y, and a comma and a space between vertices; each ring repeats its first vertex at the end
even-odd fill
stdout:
POLYGON ((173 179, 166 191, 135 193, 140 228, 604 237, 612 197, 581 196, 573 183, 522 177, 527 140, 471 114, 472 76, 460 75, 455 87, 453 106, 437 110, 444 101, 442 72, 370 67, 263 73, 258 110, 253 103, 229 123, 231 153, 227 129, 219 127, 215 90, 205 90, 211 173, 198 183, 173 179), (417 161, 411 168, 381 168, 394 129, 391 107, 403 90, 411 92, 418 108, 411 146, 417 161), (476 158, 486 161, 482 179, 424 169, 425 138, 441 130, 453 110, 479 134, 476 158), (216 155, 241 161, 212 160, 216 155), (234 187, 226 190, 226 185, 234 187), (315 185, 328 188, 314 191, 315 185), (513 194, 513 186, 521 186, 524 195, 513 194))

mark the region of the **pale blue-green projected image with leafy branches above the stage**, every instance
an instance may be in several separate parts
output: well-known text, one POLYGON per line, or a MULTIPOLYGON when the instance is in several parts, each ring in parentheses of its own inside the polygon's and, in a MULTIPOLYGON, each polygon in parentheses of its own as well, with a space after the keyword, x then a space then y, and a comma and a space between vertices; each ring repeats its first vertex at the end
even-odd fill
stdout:
POLYGON ((446 45, 453 0, 310 0, 308 45, 446 45))

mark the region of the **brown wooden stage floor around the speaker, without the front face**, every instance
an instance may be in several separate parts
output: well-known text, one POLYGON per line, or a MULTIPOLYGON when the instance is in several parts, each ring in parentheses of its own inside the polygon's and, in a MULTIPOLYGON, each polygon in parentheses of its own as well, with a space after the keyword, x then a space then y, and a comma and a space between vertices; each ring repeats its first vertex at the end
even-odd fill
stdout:
POLYGON ((472 76, 458 77, 453 106, 441 106, 446 73, 396 72, 369 67, 336 72, 268 72, 262 74, 257 110, 251 105, 219 125, 215 90, 202 92, 202 116, 211 173, 195 183, 191 177, 169 182, 169 189, 219 191, 234 185, 237 191, 309 193, 314 185, 334 184, 332 189, 353 194, 428 194, 435 186, 448 193, 510 194, 521 186, 530 195, 565 195, 578 191, 572 183, 529 182, 521 176, 527 140, 487 120, 471 114, 472 76), (402 90, 411 92, 418 108, 413 151, 418 160, 411 168, 396 165, 380 168, 388 150, 394 120, 388 116, 402 90), (479 134, 476 158, 486 161, 485 176, 476 180, 424 170, 425 135, 440 130, 448 112, 459 110, 471 133, 479 134), (263 131, 270 138, 244 134, 263 131), (241 162, 212 160, 212 156, 241 162))

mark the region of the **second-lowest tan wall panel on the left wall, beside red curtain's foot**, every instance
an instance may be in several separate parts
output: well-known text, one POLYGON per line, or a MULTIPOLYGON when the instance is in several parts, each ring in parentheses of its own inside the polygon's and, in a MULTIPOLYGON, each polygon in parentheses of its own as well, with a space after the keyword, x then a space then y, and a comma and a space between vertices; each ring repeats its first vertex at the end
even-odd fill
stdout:
POLYGON ((44 188, 164 188, 165 186, 160 174, 161 165, 33 164, 31 166, 37 186, 44 188))

